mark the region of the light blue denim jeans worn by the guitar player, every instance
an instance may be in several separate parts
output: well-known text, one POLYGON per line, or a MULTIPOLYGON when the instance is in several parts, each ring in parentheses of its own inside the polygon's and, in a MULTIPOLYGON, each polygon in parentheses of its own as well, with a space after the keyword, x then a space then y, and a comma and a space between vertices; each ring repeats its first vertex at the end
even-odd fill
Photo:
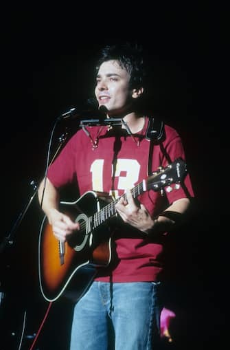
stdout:
POLYGON ((159 282, 93 282, 75 305, 70 349, 158 349, 160 288, 159 282))

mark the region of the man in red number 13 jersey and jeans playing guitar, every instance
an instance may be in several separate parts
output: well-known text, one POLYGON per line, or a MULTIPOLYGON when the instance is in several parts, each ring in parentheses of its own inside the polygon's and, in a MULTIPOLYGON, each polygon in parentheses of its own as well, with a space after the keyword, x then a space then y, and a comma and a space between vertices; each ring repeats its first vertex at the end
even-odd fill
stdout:
POLYGON ((130 189, 148 177, 149 168, 157 171, 179 157, 185 160, 183 144, 168 125, 153 147, 146 137, 151 118, 138 108, 144 73, 137 47, 105 47, 96 70, 98 108, 122 123, 77 131, 49 166, 38 197, 61 242, 78 237, 81 230, 80 222, 59 207, 63 186, 76 184, 80 196, 93 190, 117 199, 111 228, 114 252, 76 303, 71 350, 154 349, 160 335, 167 232, 186 217, 194 194, 187 175, 183 184, 168 186, 164 193, 143 190, 134 198, 130 189))

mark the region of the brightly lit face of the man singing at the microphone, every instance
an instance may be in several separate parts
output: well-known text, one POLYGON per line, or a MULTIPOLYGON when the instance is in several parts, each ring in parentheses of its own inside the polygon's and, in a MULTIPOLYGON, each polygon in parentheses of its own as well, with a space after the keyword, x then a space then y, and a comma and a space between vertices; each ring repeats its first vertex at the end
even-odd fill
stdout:
POLYGON ((95 96, 99 107, 104 105, 108 110, 108 116, 119 116, 128 111, 133 92, 129 81, 130 74, 117 61, 106 61, 100 65, 95 96))

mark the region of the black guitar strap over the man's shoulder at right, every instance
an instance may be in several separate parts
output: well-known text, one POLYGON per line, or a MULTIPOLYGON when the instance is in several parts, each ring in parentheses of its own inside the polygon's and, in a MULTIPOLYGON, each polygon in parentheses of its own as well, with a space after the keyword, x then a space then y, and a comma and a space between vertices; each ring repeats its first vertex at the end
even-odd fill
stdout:
POLYGON ((148 152, 148 176, 152 175, 152 153, 154 144, 163 142, 165 138, 165 128, 162 120, 150 117, 146 129, 146 139, 150 140, 148 152))

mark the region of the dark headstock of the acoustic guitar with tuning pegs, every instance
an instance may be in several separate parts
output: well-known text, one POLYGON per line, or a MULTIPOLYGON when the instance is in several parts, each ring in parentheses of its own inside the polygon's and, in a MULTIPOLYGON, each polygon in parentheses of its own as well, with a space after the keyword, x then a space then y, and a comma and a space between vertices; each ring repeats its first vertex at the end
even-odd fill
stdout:
POLYGON ((176 158, 174 162, 168 164, 165 168, 159 168, 152 176, 148 177, 147 187, 159 191, 170 184, 182 182, 186 175, 187 166, 185 161, 182 158, 176 158))

